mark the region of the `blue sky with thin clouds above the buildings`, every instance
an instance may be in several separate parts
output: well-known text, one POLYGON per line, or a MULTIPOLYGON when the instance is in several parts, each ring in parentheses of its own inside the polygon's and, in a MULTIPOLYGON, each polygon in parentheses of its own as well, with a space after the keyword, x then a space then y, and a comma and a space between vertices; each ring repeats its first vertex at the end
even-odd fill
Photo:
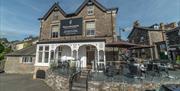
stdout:
MULTIPOLYGON (((22 40, 39 35, 39 21, 59 1, 67 13, 74 12, 84 0, 0 0, 0 37, 22 40)), ((141 25, 180 21, 180 0, 98 0, 106 7, 118 7, 116 27, 125 28, 126 39, 135 20, 141 25)), ((117 29, 118 30, 118 29, 117 29)))

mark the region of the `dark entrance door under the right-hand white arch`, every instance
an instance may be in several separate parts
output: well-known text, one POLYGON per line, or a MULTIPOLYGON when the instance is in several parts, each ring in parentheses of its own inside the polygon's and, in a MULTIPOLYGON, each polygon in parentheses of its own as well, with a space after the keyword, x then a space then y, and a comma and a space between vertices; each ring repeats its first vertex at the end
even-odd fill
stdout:
POLYGON ((88 46, 86 48, 86 56, 87 56, 87 68, 92 69, 92 62, 95 60, 95 48, 92 46, 88 46))

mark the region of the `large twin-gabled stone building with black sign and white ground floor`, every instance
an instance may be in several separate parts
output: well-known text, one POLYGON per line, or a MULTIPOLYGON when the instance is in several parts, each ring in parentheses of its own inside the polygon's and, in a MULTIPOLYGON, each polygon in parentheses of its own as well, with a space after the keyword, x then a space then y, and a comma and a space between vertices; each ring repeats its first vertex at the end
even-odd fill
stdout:
POLYGON ((97 0, 85 0, 71 14, 58 3, 39 18, 40 38, 37 44, 34 76, 46 70, 51 62, 78 60, 77 65, 92 68, 106 65, 106 43, 116 41, 117 8, 106 8, 97 0))

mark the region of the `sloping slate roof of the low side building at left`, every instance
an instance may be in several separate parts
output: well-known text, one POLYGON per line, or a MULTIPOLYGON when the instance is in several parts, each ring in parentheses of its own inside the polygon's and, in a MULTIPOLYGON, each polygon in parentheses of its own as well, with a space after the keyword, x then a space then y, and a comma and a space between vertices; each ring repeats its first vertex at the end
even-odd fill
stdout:
POLYGON ((30 47, 8 53, 6 54, 6 56, 35 56, 35 54, 36 54, 36 45, 32 45, 30 47))

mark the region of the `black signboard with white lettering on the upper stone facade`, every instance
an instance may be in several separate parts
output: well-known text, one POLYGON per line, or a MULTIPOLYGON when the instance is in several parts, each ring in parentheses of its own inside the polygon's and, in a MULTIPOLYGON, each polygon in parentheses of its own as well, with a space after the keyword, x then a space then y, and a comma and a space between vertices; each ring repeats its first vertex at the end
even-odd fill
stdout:
POLYGON ((60 36, 82 35, 82 18, 61 20, 60 36))

